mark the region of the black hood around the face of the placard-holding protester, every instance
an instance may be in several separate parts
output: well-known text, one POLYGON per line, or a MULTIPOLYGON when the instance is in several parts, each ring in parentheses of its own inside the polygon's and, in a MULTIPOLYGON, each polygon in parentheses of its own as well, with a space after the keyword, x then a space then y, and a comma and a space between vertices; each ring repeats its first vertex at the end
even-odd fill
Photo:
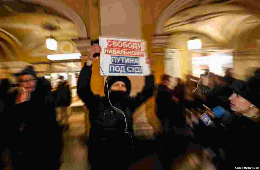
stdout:
MULTIPOLYGON (((129 95, 131 91, 131 81, 127 76, 108 76, 107 77, 107 83, 108 83, 108 89, 110 90, 110 87, 116 82, 116 81, 122 81, 126 85, 126 92, 129 95)), ((107 94, 107 85, 105 83, 104 87, 104 93, 107 94)))

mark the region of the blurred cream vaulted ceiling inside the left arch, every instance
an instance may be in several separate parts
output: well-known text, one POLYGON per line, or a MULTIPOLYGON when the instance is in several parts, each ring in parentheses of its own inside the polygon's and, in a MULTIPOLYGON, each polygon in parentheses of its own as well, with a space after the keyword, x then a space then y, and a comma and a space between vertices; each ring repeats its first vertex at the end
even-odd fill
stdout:
MULTIPOLYGON (((69 18, 69 15, 66 15, 69 11, 64 11, 62 15, 62 12, 58 12, 61 9, 55 10, 40 3, 37 4, 37 0, 33 3, 26 1, 29 0, 0 2, 1 32, 11 37, 25 53, 35 53, 39 50, 43 54, 52 53, 45 46, 46 37, 54 37, 57 41, 70 41, 82 37, 79 26, 73 21, 75 17, 69 18)), ((84 23, 83 29, 86 33, 84 23)), ((2 42, 8 45, 5 41, 2 42)), ((4 49, 3 43, 0 47, 4 49)), ((10 57, 10 55, 5 56, 10 57)))

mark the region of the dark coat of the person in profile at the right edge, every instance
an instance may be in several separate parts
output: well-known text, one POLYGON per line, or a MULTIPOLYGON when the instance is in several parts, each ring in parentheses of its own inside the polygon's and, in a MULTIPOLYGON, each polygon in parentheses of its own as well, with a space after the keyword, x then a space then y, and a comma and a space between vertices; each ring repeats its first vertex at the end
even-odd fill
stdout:
MULTIPOLYGON (((199 125, 193 131, 195 137, 200 139, 200 145, 212 148, 222 148, 225 151, 225 161, 220 169, 235 169, 235 167, 258 167, 257 153, 259 122, 245 116, 230 112, 229 116, 220 120, 225 127, 217 128, 199 125)), ((201 123, 201 122, 200 122, 201 123)))

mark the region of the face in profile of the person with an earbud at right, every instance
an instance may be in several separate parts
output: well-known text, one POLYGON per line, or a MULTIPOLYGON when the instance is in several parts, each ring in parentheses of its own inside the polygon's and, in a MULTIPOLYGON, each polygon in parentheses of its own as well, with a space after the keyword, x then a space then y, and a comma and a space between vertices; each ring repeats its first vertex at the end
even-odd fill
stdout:
POLYGON ((236 93, 233 93, 230 97, 230 108, 231 110, 239 113, 250 109, 252 103, 236 93))

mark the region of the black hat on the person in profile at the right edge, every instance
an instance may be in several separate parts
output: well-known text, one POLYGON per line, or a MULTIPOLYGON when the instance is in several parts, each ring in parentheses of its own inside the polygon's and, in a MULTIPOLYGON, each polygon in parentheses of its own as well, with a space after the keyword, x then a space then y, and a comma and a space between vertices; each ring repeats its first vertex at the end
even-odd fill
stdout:
POLYGON ((254 104, 257 108, 260 108, 260 76, 256 75, 251 77, 247 82, 245 81, 235 81, 231 85, 231 89, 238 95, 242 96, 250 103, 254 104))

